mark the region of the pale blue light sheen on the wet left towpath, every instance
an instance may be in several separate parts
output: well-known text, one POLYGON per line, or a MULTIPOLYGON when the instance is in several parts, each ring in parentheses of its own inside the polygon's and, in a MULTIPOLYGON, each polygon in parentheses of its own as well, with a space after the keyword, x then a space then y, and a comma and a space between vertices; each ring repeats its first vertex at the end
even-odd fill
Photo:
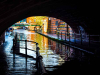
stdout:
POLYGON ((36 63, 35 60, 28 58, 26 62, 24 57, 12 54, 11 48, 13 46, 13 37, 5 36, 5 41, 3 49, 6 55, 7 65, 4 65, 3 67, 7 69, 7 72, 4 71, 6 74, 2 75, 30 75, 31 73, 36 72, 36 69, 34 68, 34 64, 36 63))

